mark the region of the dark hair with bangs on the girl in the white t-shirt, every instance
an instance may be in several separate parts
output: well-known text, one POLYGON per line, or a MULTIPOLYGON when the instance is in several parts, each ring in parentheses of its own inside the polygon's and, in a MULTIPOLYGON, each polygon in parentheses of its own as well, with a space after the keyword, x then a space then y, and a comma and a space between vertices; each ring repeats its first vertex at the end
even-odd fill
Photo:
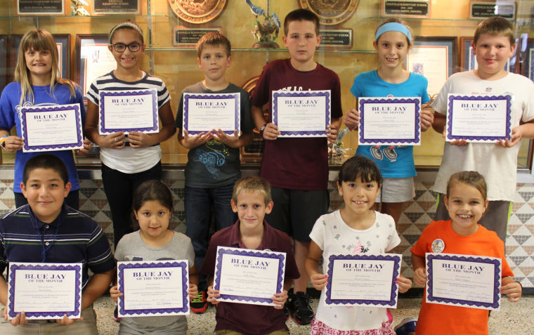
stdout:
POLYGON ((363 183, 376 181, 379 186, 382 185, 382 173, 380 173, 377 164, 363 156, 351 157, 341 165, 337 183, 341 185, 344 181, 354 181, 358 176, 363 183))

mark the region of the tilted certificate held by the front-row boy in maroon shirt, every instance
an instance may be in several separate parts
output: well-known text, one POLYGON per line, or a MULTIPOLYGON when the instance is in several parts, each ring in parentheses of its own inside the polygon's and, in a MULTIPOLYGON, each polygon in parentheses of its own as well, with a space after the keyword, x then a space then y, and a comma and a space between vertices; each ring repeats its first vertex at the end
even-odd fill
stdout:
POLYGON ((285 252, 217 247, 214 289, 218 301, 275 306, 284 287, 285 252))

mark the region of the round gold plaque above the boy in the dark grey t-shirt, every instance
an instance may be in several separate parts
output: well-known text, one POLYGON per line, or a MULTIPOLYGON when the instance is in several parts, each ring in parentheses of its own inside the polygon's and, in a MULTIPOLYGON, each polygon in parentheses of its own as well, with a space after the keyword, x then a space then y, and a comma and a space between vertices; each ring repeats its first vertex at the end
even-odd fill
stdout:
POLYGON ((206 23, 221 15, 228 0, 169 0, 178 18, 189 23, 206 23))

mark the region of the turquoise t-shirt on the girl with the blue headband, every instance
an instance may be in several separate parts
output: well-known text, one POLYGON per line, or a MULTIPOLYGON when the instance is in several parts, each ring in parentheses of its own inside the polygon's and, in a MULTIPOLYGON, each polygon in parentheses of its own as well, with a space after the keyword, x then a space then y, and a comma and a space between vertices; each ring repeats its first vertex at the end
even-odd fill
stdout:
MULTIPOLYGON (((408 80, 400 84, 391 84, 380 78, 377 70, 363 72, 354 78, 351 93, 360 97, 421 97, 421 103, 428 103, 426 92, 428 80, 420 74, 410 72, 408 80)), ((416 175, 413 160, 413 146, 358 145, 356 155, 372 159, 377 164, 384 178, 408 178, 416 175)))

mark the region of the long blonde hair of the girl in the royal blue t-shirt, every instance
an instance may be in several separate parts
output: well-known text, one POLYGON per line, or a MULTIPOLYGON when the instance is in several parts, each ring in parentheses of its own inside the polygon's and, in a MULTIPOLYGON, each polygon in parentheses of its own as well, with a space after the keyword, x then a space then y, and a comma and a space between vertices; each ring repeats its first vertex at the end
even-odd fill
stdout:
POLYGON ((30 69, 26 65, 25 53, 27 50, 49 51, 52 56, 52 68, 50 70, 50 93, 54 96, 56 84, 65 85, 70 90, 70 96, 76 96, 76 85, 69 79, 58 77, 58 47, 52 34, 45 29, 32 29, 20 40, 18 46, 17 65, 15 66, 15 81, 20 82, 20 105, 25 101, 34 102, 34 93, 32 90, 32 77, 30 69))

